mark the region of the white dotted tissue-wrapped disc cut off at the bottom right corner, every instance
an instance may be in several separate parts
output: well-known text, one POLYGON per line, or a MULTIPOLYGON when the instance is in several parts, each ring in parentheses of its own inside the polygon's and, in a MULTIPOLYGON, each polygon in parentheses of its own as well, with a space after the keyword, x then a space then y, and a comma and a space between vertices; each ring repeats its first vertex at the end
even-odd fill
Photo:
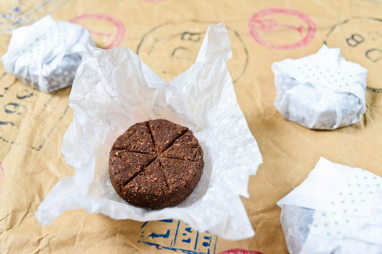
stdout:
POLYGON ((277 202, 293 253, 382 253, 382 178, 320 158, 277 202))

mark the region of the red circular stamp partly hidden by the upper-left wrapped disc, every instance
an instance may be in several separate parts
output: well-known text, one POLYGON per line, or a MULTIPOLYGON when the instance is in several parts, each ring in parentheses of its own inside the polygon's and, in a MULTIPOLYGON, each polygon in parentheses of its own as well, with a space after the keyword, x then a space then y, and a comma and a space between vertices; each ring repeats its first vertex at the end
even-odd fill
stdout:
POLYGON ((123 23, 106 14, 83 14, 70 20, 85 27, 104 49, 118 47, 126 33, 123 23), (91 28, 91 29, 90 29, 91 28))

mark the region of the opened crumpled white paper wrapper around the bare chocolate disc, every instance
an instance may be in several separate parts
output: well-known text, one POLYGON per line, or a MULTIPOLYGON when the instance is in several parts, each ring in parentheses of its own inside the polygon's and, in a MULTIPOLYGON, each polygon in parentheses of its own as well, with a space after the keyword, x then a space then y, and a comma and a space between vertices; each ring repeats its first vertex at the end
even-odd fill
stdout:
POLYGON ((62 179, 46 196, 38 220, 46 225, 65 210, 83 208, 114 219, 181 219, 232 240, 253 236, 239 195, 248 197, 248 176, 256 173, 262 158, 236 100, 226 65, 231 56, 223 23, 208 28, 196 63, 168 82, 130 49, 86 46, 69 96, 74 119, 62 144, 75 175, 62 179), (205 166, 185 201, 146 210, 129 205, 114 191, 108 159, 114 141, 128 127, 157 118, 192 130, 205 166))

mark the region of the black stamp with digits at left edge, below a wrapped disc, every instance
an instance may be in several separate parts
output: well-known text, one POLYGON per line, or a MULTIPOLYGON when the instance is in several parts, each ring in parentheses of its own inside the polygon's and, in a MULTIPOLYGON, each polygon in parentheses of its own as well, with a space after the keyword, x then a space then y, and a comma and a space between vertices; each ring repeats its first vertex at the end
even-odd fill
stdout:
POLYGON ((70 89, 47 94, 19 81, 7 83, 0 78, 0 140, 38 151, 66 114, 70 89), (33 138, 26 141, 20 132, 33 138))

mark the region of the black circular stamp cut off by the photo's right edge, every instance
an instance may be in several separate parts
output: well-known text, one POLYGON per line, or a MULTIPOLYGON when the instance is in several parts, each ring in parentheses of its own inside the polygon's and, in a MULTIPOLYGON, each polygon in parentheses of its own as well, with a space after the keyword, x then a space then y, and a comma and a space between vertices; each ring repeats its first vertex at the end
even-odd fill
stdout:
POLYGON ((382 93, 382 19, 351 17, 334 25, 326 34, 324 44, 341 49, 346 60, 365 67, 367 90, 382 93))

